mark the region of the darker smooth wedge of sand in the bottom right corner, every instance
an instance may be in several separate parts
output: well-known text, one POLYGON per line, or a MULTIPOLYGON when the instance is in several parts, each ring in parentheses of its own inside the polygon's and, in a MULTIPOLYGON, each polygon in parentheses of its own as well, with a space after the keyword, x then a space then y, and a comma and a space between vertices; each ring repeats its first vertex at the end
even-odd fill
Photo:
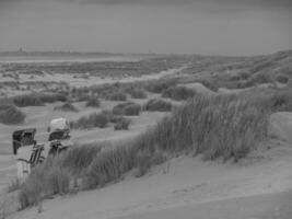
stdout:
POLYGON ((292 191, 187 205, 115 219, 291 219, 292 191))

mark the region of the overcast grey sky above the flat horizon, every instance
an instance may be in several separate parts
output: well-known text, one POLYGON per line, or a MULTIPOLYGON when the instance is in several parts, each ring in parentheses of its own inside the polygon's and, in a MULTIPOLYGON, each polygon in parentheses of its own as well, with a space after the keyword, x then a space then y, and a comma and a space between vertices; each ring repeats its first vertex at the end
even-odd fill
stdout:
POLYGON ((292 0, 0 0, 0 50, 248 56, 292 49, 292 0))

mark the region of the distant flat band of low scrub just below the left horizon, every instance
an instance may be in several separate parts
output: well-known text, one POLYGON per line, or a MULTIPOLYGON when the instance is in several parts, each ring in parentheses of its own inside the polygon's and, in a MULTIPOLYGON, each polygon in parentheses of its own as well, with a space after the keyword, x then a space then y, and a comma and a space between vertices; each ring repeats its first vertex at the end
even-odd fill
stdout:
POLYGON ((101 78, 112 77, 131 77, 143 76, 149 73, 157 73, 171 68, 178 68, 185 62, 184 57, 179 56, 162 56, 144 58, 140 61, 105 61, 105 62, 62 62, 58 65, 48 64, 13 64, 3 65, 8 72, 19 72, 21 74, 46 73, 68 73, 78 76, 86 72, 87 78, 97 76, 101 78))

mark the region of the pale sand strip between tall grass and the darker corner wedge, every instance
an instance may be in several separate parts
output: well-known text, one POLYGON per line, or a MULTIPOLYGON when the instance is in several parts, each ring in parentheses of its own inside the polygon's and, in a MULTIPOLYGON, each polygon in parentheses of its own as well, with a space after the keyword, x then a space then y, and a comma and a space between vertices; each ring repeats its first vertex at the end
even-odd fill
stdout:
MULTIPOLYGON (((39 219, 52 217, 94 219, 96 216, 101 219, 121 216, 140 218, 139 216, 155 216, 155 211, 160 209, 166 209, 162 210, 163 214, 160 216, 164 214, 167 216, 168 210, 170 212, 173 212, 172 208, 179 210, 180 206, 197 209, 199 203, 207 203, 206 205, 212 208, 213 205, 208 201, 229 198, 237 200, 237 197, 243 196, 282 192, 292 185, 292 178, 289 177, 292 149, 291 147, 288 149, 288 146, 277 146, 278 142, 265 145, 271 149, 260 148, 253 151, 238 163, 222 163, 220 160, 203 162, 201 157, 182 155, 153 166, 143 177, 135 177, 135 171, 131 171, 122 181, 115 184, 46 200, 42 214, 37 214, 36 207, 33 207, 16 214, 13 219, 31 219, 36 215, 39 219)), ((218 204, 224 204, 224 200, 218 204)), ((255 207, 261 208, 261 205, 255 207)), ((213 209, 214 212, 215 209, 218 208, 213 209)), ((241 212, 249 214, 248 210, 249 208, 243 208, 241 212)), ((191 212, 194 211, 187 210, 186 216, 191 212)), ((232 216, 234 215, 230 215, 232 216)))

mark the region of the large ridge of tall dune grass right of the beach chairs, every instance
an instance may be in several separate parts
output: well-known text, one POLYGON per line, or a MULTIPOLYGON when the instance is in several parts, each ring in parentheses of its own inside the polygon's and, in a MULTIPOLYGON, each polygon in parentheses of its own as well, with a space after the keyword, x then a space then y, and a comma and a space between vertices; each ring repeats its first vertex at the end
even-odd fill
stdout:
POLYGON ((266 138, 270 113, 266 106, 261 99, 196 95, 132 140, 73 148, 47 159, 20 186, 20 201, 24 208, 46 196, 69 193, 77 177, 83 178, 83 188, 96 188, 121 180, 129 171, 141 176, 152 165, 182 153, 237 161, 266 138))

